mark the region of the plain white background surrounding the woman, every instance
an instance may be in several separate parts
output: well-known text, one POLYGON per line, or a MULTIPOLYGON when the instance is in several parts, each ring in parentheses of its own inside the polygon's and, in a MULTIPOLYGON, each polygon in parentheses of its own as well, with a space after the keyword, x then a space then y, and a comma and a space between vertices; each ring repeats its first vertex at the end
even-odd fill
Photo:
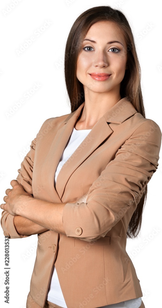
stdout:
MULTIPOLYGON (((0 203, 3 203, 6 188, 10 188, 10 181, 17 177, 21 161, 43 122, 71 112, 63 71, 65 44, 75 19, 93 6, 119 7, 128 18, 141 65, 146 115, 161 124, 162 29, 158 0, 21 0, 15 6, 12 3, 12 0, 0 2, 0 203), (5 12, 7 8, 10 12, 5 12), (51 24, 38 36, 37 29, 46 21, 51 24), (18 55, 16 50, 31 36, 35 40, 18 55), (34 83, 40 84, 39 89, 25 99, 26 91, 30 91, 34 83), (8 115, 21 99, 24 99, 21 107, 8 115)), ((148 184, 140 237, 127 243, 147 308, 159 307, 161 303, 161 175, 159 160, 158 170, 148 184), (157 231, 153 232, 154 229, 157 231)), ((10 240, 9 305, 4 303, 4 239, 1 230, 0 307, 25 308, 37 235, 10 240)))

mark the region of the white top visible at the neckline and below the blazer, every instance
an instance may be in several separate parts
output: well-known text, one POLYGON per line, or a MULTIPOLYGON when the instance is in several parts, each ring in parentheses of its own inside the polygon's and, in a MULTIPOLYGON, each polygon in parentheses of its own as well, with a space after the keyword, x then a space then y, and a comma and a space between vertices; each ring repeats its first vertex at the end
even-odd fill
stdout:
MULTIPOLYGON (((79 147, 79 145, 82 143, 82 141, 86 138, 88 133, 91 131, 91 129, 82 129, 82 130, 76 130, 73 128, 71 136, 67 142, 67 145, 63 151, 63 154, 60 158, 59 164, 57 166, 56 172, 55 172, 55 179, 54 179, 54 186, 56 184, 57 176, 65 162, 69 159, 69 157, 75 152, 75 150, 79 147)), ((61 306, 63 308, 67 308, 66 302, 63 297, 63 293, 59 284, 59 278, 57 276, 56 268, 53 267, 53 272, 51 276, 51 282, 48 289, 47 294, 47 301, 52 302, 58 306, 61 306)), ((139 308, 141 305, 142 299, 141 298, 135 298, 131 299, 129 301, 121 302, 116 305, 108 305, 104 306, 102 308, 139 308)), ((101 307, 100 307, 101 308, 101 307)))

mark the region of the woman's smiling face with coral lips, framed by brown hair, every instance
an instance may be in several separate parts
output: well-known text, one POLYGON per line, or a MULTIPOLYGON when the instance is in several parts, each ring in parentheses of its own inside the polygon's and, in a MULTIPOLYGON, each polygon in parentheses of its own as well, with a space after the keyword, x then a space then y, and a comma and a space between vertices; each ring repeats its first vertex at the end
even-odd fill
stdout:
POLYGON ((90 27, 83 40, 76 75, 84 91, 118 94, 126 62, 127 45, 123 32, 116 27, 115 22, 99 21, 90 27), (92 75, 96 73, 107 75, 92 75))

